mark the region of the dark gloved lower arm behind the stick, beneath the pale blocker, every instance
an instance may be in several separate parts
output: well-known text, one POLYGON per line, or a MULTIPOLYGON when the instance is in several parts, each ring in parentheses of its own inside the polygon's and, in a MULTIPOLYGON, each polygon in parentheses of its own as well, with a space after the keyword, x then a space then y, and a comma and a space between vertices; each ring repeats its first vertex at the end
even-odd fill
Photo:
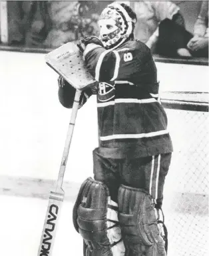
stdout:
MULTIPOLYGON (((73 107, 76 89, 61 76, 58 78, 58 85, 58 96, 60 103, 63 105, 63 107, 71 109, 73 107)), ((81 108, 87 102, 87 99, 89 99, 91 95, 95 94, 92 88, 93 87, 89 87, 82 91, 79 101, 79 108, 81 108)))

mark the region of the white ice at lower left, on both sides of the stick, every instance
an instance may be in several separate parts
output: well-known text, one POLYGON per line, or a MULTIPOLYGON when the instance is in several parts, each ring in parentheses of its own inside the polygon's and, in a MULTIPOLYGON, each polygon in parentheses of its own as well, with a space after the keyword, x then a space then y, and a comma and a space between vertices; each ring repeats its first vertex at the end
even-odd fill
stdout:
MULTIPOLYGON (((0 255, 37 256, 47 200, 0 196, 0 255)), ((63 203, 53 256, 83 255, 83 240, 72 221, 73 203, 63 203)))

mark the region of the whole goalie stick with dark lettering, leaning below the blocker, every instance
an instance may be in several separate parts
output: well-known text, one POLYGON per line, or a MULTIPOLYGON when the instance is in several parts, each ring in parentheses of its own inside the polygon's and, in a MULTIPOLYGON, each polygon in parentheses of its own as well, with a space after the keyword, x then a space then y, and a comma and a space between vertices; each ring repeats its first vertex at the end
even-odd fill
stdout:
POLYGON ((61 206, 65 197, 65 192, 62 189, 63 178, 65 174, 65 167, 67 164, 67 158, 69 155, 69 149, 71 145, 71 139, 73 136, 73 129, 75 125, 75 119, 77 117, 77 111, 79 109, 79 99, 81 91, 77 90, 75 93, 75 99, 73 103, 73 109, 71 113, 71 121, 69 123, 69 129, 67 131, 67 139, 65 141, 65 148, 63 152, 63 158, 61 161, 61 167, 59 169, 59 176, 55 189, 50 192, 49 204, 47 207, 47 214, 45 217, 45 223, 43 225, 43 231, 41 235, 41 243, 39 245, 38 256, 51 256, 53 250, 53 243, 55 239, 57 221, 60 215, 61 206))

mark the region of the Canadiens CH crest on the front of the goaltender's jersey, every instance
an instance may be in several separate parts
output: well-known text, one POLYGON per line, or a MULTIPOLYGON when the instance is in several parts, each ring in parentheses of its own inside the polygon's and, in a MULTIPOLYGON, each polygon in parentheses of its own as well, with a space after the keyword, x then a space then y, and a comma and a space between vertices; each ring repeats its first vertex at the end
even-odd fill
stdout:
POLYGON ((98 99, 99 101, 109 101, 114 98, 114 85, 110 85, 109 83, 99 83, 99 93, 98 99))

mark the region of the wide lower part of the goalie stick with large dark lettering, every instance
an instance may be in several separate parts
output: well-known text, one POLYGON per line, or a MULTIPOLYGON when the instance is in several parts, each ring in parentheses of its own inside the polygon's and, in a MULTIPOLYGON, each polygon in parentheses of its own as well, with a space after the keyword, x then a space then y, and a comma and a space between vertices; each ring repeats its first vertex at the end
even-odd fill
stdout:
POLYGON ((38 256, 52 255, 55 234, 57 231, 58 218, 60 216, 61 206, 63 205, 64 197, 65 192, 63 191, 63 189, 50 192, 47 214, 45 217, 45 223, 43 225, 38 256))

